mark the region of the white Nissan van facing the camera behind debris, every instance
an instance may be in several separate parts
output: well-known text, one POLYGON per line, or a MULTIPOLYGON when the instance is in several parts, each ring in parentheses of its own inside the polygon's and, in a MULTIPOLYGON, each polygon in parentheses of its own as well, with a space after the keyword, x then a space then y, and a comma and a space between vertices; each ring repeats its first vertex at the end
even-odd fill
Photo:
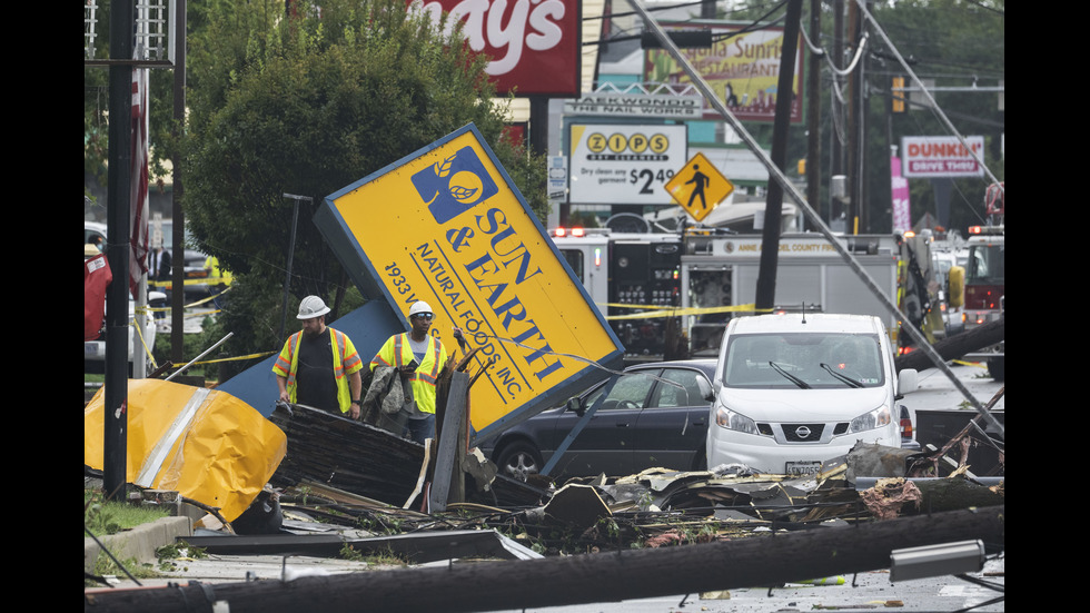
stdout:
MULTIPOLYGON (((902 373, 906 385, 914 375, 902 373)), ((878 317, 731 319, 715 368, 707 465, 813 474, 860 441, 900 447, 899 385, 878 317)))

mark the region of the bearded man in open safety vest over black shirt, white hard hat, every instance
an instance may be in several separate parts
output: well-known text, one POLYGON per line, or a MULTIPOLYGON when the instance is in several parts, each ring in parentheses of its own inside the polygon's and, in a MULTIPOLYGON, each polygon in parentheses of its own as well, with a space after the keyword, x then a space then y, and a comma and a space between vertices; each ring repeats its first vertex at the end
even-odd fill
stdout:
POLYGON ((303 329, 288 337, 272 365, 280 401, 358 419, 364 363, 348 335, 326 326, 327 313, 317 296, 299 303, 303 329))

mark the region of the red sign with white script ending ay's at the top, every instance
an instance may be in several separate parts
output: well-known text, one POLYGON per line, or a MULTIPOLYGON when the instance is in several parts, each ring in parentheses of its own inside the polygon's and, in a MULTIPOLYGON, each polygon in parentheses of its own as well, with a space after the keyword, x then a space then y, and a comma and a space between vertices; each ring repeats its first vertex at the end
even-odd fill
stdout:
POLYGON ((469 48, 492 58, 501 93, 579 96, 577 0, 412 0, 409 10, 463 22, 469 48))

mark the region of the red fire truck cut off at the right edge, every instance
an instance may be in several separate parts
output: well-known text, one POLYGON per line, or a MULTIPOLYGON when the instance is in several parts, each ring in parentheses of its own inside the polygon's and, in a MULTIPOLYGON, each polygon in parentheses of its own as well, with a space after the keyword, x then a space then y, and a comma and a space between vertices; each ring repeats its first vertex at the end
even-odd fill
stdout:
MULTIPOLYGON (((984 211, 988 225, 969 228, 969 261, 965 269, 965 329, 995 322, 1004 315, 1004 273, 1007 248, 1003 229, 1004 207, 1003 184, 988 188, 984 211)), ((984 359, 988 373, 997 380, 1003 380, 1004 343, 970 354, 967 358, 984 359)))

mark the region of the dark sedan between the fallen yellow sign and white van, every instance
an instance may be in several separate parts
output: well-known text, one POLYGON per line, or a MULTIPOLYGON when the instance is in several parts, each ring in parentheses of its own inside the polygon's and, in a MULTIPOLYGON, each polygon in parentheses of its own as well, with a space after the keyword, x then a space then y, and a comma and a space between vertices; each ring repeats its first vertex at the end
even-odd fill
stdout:
POLYGON ((594 415, 549 471, 553 477, 705 467, 714 359, 641 364, 502 433, 485 452, 503 474, 539 473, 587 409, 594 415), (611 387, 612 385, 612 387, 611 387), (605 397, 603 393, 608 389, 605 397))

